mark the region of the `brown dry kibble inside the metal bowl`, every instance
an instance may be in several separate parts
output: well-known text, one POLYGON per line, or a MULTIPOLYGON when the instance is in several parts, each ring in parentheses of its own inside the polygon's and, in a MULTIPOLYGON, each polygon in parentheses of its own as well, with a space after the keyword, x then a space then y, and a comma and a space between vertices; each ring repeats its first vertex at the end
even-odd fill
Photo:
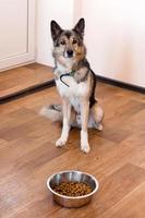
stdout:
POLYGON ((53 191, 65 196, 83 196, 89 194, 92 187, 83 182, 62 182, 53 186, 53 191))

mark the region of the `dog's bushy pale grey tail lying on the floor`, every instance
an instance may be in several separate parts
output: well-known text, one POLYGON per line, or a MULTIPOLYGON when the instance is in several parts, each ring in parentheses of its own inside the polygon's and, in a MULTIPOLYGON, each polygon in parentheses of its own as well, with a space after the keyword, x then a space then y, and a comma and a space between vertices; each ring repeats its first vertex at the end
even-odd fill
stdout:
POLYGON ((45 106, 40 110, 40 114, 52 121, 62 121, 62 106, 61 105, 45 106))

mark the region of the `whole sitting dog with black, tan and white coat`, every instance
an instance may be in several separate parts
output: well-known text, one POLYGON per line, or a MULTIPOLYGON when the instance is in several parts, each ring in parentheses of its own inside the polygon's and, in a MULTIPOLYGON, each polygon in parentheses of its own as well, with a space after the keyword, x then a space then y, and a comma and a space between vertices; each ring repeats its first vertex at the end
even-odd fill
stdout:
POLYGON ((102 130, 104 111, 95 98, 96 75, 86 59, 84 29, 84 19, 71 31, 51 21, 53 74, 62 105, 44 107, 40 113, 52 121, 62 121, 62 133, 56 146, 65 145, 71 126, 81 128, 81 150, 88 153, 87 129, 102 130))

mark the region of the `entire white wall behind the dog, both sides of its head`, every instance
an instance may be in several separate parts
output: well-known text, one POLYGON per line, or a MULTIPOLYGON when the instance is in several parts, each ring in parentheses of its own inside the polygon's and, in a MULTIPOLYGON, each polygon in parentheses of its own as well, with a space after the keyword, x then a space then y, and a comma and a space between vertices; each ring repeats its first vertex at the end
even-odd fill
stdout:
POLYGON ((70 28, 84 16, 87 57, 95 73, 145 87, 144 0, 37 2, 37 62, 53 65, 51 20, 70 28))

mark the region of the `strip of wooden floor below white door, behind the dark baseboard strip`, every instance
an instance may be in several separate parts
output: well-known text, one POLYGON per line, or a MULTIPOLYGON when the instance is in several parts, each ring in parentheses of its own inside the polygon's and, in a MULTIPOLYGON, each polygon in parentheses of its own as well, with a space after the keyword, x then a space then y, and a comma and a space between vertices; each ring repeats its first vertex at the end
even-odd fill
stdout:
POLYGON ((52 69, 39 63, 0 72, 0 99, 52 80, 52 69))

